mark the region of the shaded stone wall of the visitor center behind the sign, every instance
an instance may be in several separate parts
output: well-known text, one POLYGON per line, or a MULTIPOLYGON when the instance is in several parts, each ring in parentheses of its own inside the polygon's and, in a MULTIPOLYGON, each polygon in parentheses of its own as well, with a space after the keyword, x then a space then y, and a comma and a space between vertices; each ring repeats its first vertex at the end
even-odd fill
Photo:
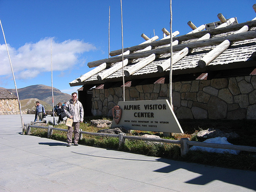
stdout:
MULTIPOLYGON (((125 88, 126 101, 168 98, 169 84, 125 88)), ((120 87, 94 89, 92 113, 112 116, 122 100, 120 87)), ((178 119, 256 119, 256 76, 174 82, 173 105, 178 119)))

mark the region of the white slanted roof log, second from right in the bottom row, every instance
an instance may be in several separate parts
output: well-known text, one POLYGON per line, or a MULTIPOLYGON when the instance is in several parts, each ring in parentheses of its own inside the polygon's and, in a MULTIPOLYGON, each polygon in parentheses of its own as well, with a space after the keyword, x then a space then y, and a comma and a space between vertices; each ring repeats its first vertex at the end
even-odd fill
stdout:
MULTIPOLYGON (((189 53, 189 49, 186 47, 184 49, 182 49, 181 51, 179 51, 178 53, 176 53, 173 56, 173 65, 178 62, 180 59, 182 59, 183 57, 185 57, 187 54, 189 53)), ((163 72, 166 69, 168 69, 170 67, 170 58, 165 60, 161 65, 157 66, 157 70, 158 72, 163 72)))

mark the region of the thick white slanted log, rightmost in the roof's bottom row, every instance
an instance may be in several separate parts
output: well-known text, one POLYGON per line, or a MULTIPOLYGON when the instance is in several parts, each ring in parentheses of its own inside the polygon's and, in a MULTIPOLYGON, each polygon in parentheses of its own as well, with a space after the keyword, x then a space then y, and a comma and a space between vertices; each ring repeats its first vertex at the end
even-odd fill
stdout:
POLYGON ((205 68, 211 61, 216 59, 220 54, 222 54, 230 46, 229 40, 224 40, 215 49, 207 53, 202 59, 198 61, 198 66, 200 68, 205 68))

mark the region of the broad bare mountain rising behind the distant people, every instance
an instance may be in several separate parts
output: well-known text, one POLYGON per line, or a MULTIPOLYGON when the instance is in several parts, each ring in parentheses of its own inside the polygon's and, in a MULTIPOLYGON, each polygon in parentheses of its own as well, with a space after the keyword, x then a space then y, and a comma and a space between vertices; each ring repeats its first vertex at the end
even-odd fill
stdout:
MULTIPOLYGON (((15 89, 7 89, 7 90, 12 92, 14 95, 17 95, 15 89)), ((37 99, 39 100, 39 102, 41 100, 52 106, 52 87, 45 86, 43 84, 36 84, 34 86, 20 88, 18 89, 18 96, 19 96, 20 102, 22 102, 21 100, 24 100, 24 99, 37 99)), ((63 103, 71 99, 71 95, 67 93, 62 93, 56 88, 53 88, 53 96, 54 96, 54 105, 56 105, 58 102, 63 103)))

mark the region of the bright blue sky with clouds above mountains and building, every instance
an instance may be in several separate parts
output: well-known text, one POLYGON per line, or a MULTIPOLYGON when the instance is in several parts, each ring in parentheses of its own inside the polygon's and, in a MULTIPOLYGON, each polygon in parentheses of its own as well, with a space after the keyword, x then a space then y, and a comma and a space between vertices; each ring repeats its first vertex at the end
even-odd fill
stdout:
MULTIPOLYGON (((190 20, 197 27, 218 22, 218 13, 237 17, 244 23, 256 17, 253 0, 173 0, 173 32, 191 31, 190 20)), ((34 84, 52 86, 71 94, 80 87, 69 82, 93 68, 88 62, 109 56, 122 48, 120 0, 0 0, 0 20, 4 29, 16 87, 34 84), (52 64, 52 65, 51 65, 52 64)), ((123 46, 131 47, 154 34, 163 37, 170 31, 169 0, 122 0, 123 46)), ((2 29, 0 32, 0 87, 15 89, 2 29)))

